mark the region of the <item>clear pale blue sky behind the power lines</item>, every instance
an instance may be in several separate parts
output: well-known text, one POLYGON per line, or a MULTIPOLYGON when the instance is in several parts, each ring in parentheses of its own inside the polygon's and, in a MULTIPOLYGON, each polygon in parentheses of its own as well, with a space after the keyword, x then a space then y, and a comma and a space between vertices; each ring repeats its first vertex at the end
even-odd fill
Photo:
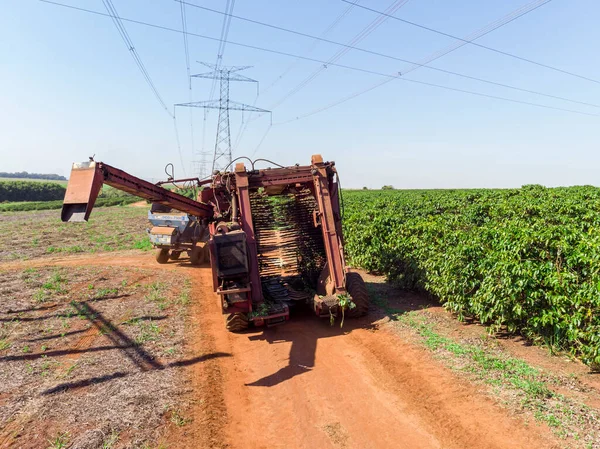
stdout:
MULTIPOLYGON (((61 0, 62 1, 62 0, 61 0)), ((189 0, 223 11, 225 0, 189 0)), ((530 2, 530 1, 529 1, 530 2)), ((444 32, 468 36, 527 0, 409 0, 395 14, 444 32)), ((105 12, 101 0, 64 3, 105 12)), ((362 0, 384 10, 392 0, 362 0)), ((181 29, 174 0, 113 0, 123 18, 181 29)), ((8 0, 0 15, 2 108, 0 171, 68 175, 71 162, 97 160, 141 177, 158 179, 168 162, 176 175, 190 175, 194 152, 202 150, 203 113, 177 108, 184 167, 173 120, 161 108, 108 17, 36 0, 8 0)), ((237 0, 242 17, 321 35, 348 7, 341 0, 237 0)), ((223 16, 186 6, 188 31, 219 37, 223 16)), ((600 80, 598 17, 594 0, 553 0, 477 40, 483 45, 600 80)), ((327 38, 349 42, 376 18, 352 8, 327 38)), ((189 98, 181 34, 123 22, 165 103, 189 98)), ((341 47, 232 19, 231 42, 327 60, 341 47), (314 47, 314 48, 313 48, 314 47), (312 49, 312 50, 311 50, 312 49)), ((396 20, 387 20, 358 46, 407 60, 421 60, 454 41, 396 20)), ((218 42, 189 37, 196 61, 215 62, 218 42)), ((251 65, 243 72, 255 86, 231 84, 231 99, 270 108, 320 64, 232 44, 225 65, 251 65), (277 80, 290 67, 285 76, 277 80)), ((410 65, 351 50, 339 64, 383 73, 410 65)), ((523 89, 600 105, 600 84, 560 74, 466 45, 432 66, 523 89)), ((406 78, 489 95, 600 114, 600 108, 567 103, 419 68, 406 78)), ((398 188, 600 185, 600 117, 549 110, 393 80, 320 114, 293 120, 384 78, 329 66, 273 109, 249 122, 234 157, 251 155, 278 163, 307 164, 311 154, 335 160, 345 187, 398 188), (279 124, 280 122, 287 122, 279 124), (259 142, 265 136, 262 145, 259 142)), ((211 82, 193 81, 194 100, 208 99, 211 82)), ((217 114, 206 120, 204 148, 214 148, 217 114)), ((232 112, 232 140, 241 113, 232 112)), ((244 120, 247 120, 247 114, 244 120)))

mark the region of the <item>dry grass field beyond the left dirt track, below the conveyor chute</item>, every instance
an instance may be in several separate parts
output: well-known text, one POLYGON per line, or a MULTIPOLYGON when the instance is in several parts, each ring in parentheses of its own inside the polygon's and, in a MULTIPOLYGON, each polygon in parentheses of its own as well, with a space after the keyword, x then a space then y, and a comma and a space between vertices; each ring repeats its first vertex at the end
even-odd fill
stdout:
POLYGON ((0 214, 0 261, 56 253, 148 250, 148 210, 139 207, 96 209, 87 223, 62 223, 60 211, 0 214))

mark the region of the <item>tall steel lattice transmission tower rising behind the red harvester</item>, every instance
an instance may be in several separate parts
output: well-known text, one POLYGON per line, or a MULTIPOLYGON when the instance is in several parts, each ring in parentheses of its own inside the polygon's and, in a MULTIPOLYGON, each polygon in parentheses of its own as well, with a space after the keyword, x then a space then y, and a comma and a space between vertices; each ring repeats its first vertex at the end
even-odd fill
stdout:
MULTIPOLYGON (((200 62, 200 61, 198 61, 200 62)), ((208 78, 218 80, 220 83, 220 95, 218 100, 207 100, 207 101, 196 101, 191 103, 179 103, 175 106, 186 106, 203 109, 218 109, 219 120, 217 123, 217 138, 215 141, 215 151, 213 154, 212 161, 212 172, 215 170, 223 170, 227 167, 232 159, 232 148, 231 148, 231 129, 229 127, 229 111, 250 111, 250 112, 271 112, 266 109, 257 108, 248 104, 238 103, 237 101, 231 101, 229 99, 229 83, 231 81, 243 81, 248 83, 257 83, 258 81, 248 78, 247 76, 240 75, 239 71, 250 68, 250 66, 232 66, 232 67, 219 67, 215 64, 208 64, 206 62, 200 62, 210 68, 212 71, 206 73, 199 73, 192 75, 193 78, 208 78)))

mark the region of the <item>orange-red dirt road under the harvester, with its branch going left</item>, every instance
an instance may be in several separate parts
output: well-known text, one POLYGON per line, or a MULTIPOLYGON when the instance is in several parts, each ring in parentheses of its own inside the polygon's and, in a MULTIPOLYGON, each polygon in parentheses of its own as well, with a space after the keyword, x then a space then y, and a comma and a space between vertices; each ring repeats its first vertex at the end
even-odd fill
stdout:
MULTIPOLYGON (((168 447, 550 448, 547 428, 480 395, 425 351, 367 318, 344 329, 310 315, 273 329, 226 331, 209 268, 157 265, 151 254, 46 259, 40 265, 185 270, 194 304, 192 423, 168 447), (227 354, 211 358, 210 354, 227 354)), ((11 264, 12 267, 15 264, 11 264)), ((2 265, 0 265, 0 270, 2 265)))

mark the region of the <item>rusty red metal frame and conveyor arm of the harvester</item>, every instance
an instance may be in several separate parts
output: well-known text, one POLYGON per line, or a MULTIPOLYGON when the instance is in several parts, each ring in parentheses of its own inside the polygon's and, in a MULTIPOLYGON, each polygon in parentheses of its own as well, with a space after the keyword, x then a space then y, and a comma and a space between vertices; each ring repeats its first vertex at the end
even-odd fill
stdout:
POLYGON ((238 163, 233 173, 219 173, 210 181, 199 181, 197 178, 186 179, 186 181, 197 181, 198 185, 210 183, 209 188, 200 192, 199 201, 194 201, 161 187, 164 183, 152 184, 123 170, 92 160, 84 164, 74 164, 65 194, 62 219, 63 221, 87 220, 102 184, 108 184, 153 203, 164 204, 204 220, 211 235, 209 248, 214 291, 219 295, 222 304, 226 303, 224 295, 227 294, 245 294, 247 297, 246 302, 233 303, 229 307, 224 307, 223 312, 250 313, 250 320, 256 323, 268 323, 271 318, 287 319, 289 311, 284 307, 268 317, 253 317, 251 314, 255 305, 261 303, 264 297, 250 192, 259 188, 278 193, 288 187, 309 188, 317 203, 318 210, 313 216, 314 225, 321 227, 327 260, 317 287, 321 290, 317 293, 325 298, 320 300, 320 296, 315 297, 315 310, 320 315, 323 310, 330 309, 327 304, 335 299, 335 295, 346 293, 346 266, 336 176, 335 163, 324 162, 320 155, 313 155, 311 165, 305 166, 247 170, 243 163, 238 163), (224 204, 227 201, 228 204, 224 204), (229 208, 229 224, 237 225, 238 229, 241 227, 246 235, 248 254, 246 287, 223 288, 219 283, 217 270, 214 268, 217 266, 217 260, 213 236, 219 232, 228 232, 228 224, 222 222, 224 206, 229 208))

